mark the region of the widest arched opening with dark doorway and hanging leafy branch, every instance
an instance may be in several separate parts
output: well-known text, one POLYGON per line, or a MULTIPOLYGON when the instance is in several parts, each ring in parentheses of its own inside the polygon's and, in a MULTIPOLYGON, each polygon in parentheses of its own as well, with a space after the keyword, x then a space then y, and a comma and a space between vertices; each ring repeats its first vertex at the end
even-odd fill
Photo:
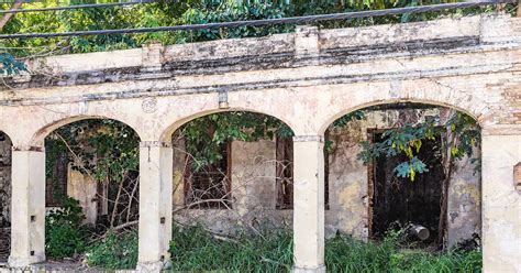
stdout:
POLYGON ((324 136, 326 256, 339 234, 386 241, 399 233, 407 248, 479 247, 480 128, 472 117, 376 105, 341 116, 324 136))

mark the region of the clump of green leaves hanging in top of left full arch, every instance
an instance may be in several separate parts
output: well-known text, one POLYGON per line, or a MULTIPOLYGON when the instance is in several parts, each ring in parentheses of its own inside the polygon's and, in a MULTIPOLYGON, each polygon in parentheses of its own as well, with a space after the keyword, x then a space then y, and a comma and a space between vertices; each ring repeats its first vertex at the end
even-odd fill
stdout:
MULTIPOLYGON (((138 171, 138 135, 124 123, 89 119, 58 128, 46 138, 45 149, 51 155, 66 152, 74 170, 97 181, 121 182, 130 171, 138 171)), ((55 157, 47 156, 48 170, 54 164, 55 157)))

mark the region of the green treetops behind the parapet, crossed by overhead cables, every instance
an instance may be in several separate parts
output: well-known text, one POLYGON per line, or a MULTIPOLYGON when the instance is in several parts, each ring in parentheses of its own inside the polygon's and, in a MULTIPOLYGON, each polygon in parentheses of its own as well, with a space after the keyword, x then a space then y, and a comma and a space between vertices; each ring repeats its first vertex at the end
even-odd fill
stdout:
MULTIPOLYGON (((16 13, 3 33, 68 32, 104 29, 152 28, 160 25, 197 24, 237 20, 256 20, 282 17, 298 17, 361 10, 400 8, 419 4, 453 2, 454 0, 279 0, 279 1, 163 1, 157 3, 126 7, 74 9, 53 12, 16 13)), ((106 1, 88 1, 106 2, 106 1)), ((70 0, 69 4, 85 3, 70 0)), ((45 8, 64 4, 62 1, 23 3, 22 8, 45 8)), ((9 9, 9 4, 0 4, 9 9)), ((353 20, 335 20, 317 23, 321 28, 346 28, 381 23, 399 23, 434 19, 443 14, 463 14, 490 11, 492 8, 375 17, 353 20)), ((513 9, 512 9, 513 10, 513 9)), ((47 54, 85 53, 138 47, 144 43, 160 42, 176 44, 215 39, 260 36, 292 31, 295 25, 242 26, 235 29, 197 30, 180 32, 156 32, 136 34, 110 34, 74 37, 35 37, 0 41, 0 47, 16 56, 38 56, 47 54)))

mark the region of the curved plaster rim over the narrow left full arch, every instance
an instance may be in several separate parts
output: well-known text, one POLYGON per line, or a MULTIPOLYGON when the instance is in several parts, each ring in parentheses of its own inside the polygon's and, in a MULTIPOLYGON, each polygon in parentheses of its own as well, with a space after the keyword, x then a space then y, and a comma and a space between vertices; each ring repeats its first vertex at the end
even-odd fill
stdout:
POLYGON ((89 114, 82 116, 82 114, 80 114, 80 116, 66 117, 66 118, 55 120, 51 123, 47 123, 47 124, 43 125, 42 128, 40 128, 36 131, 36 133, 33 134, 33 136, 31 138, 30 144, 31 145, 43 145, 44 141, 45 141, 45 138, 47 138, 47 135, 49 135, 55 130, 57 130, 62 127, 65 127, 65 125, 73 124, 73 123, 78 122, 78 121, 82 121, 82 120, 113 120, 113 121, 117 121, 119 123, 122 123, 122 124, 131 128, 137 134, 140 140, 142 139, 141 134, 140 134, 140 131, 137 131, 134 127, 130 125, 129 122, 125 122, 125 121, 122 121, 122 120, 119 120, 119 119, 114 119, 114 118, 111 118, 111 117, 106 117, 106 116, 89 116, 89 114))

